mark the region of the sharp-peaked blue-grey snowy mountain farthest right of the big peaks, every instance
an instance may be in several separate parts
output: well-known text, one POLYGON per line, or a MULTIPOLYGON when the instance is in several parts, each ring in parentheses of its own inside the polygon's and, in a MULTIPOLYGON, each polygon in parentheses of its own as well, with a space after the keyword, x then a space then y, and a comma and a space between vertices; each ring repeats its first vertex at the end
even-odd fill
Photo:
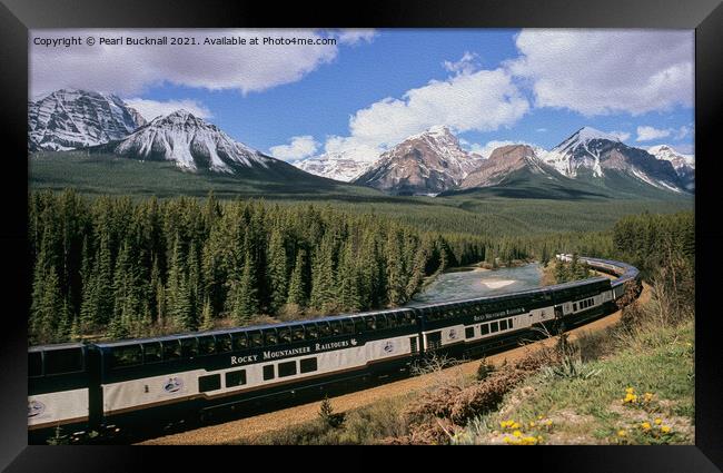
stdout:
POLYGON ((591 127, 575 131, 541 158, 571 178, 610 181, 622 176, 660 189, 682 191, 685 187, 671 162, 591 127))

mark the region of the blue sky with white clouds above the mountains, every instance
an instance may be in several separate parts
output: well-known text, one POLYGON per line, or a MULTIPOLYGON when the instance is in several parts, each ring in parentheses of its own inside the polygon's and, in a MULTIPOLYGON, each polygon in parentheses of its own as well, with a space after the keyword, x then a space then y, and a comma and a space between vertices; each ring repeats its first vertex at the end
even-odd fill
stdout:
POLYGON ((110 92, 147 119, 185 108, 287 161, 369 160, 435 125, 484 156, 583 126, 693 154, 693 63, 694 30, 32 30, 29 96, 110 92), (196 45, 123 45, 164 36, 196 45), (221 38, 247 43, 204 45, 221 38))

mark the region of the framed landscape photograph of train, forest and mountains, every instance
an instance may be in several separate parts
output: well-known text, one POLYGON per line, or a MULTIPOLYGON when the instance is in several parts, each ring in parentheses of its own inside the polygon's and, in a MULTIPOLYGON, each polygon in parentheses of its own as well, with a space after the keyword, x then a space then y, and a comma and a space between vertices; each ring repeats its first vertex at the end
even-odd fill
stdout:
POLYGON ((692 29, 31 29, 31 445, 693 445, 692 29))

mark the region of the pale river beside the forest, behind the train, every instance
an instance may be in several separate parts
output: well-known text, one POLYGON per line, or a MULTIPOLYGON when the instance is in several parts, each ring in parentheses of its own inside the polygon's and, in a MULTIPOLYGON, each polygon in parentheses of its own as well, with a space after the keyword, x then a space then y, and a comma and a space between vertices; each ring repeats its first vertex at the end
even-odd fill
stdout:
POLYGON ((514 293, 539 287, 542 267, 538 263, 499 269, 455 268, 444 273, 417 293, 407 306, 468 299, 514 293))

